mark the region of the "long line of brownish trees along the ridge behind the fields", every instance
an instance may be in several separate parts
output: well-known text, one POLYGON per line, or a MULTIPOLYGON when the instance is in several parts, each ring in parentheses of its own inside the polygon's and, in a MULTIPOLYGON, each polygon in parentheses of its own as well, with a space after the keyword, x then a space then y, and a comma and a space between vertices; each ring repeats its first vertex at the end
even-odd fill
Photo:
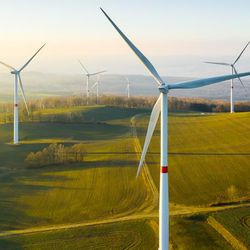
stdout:
MULTIPOLYGON (((100 105, 116 106, 124 108, 151 108, 156 101, 156 97, 131 97, 130 99, 123 96, 101 96, 100 105)), ((95 103, 95 98, 90 98, 90 103, 95 103)), ((47 97, 29 102, 31 111, 28 116, 23 104, 20 104, 19 117, 20 121, 40 120, 39 116, 43 110, 55 108, 70 108, 86 105, 86 99, 83 96, 65 96, 65 97, 47 97)), ((170 111, 198 111, 198 112, 228 112, 229 103, 225 101, 211 101, 197 98, 169 98, 170 111)), ((236 111, 250 111, 250 102, 236 102, 236 111)), ((69 114, 69 120, 74 121, 79 117, 69 114)), ((79 116, 79 114, 77 114, 79 116)), ((13 104, 0 104, 0 123, 9 123, 13 121, 13 104)))

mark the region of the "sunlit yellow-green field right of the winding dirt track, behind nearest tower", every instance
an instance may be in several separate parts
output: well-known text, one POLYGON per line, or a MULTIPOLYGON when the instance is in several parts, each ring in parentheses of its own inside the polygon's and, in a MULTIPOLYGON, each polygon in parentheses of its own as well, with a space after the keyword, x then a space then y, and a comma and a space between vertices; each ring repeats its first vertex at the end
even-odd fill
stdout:
MULTIPOLYGON (((141 143, 147 119, 138 121, 141 143)), ((171 202, 205 205, 250 195, 250 113, 172 114, 169 119, 171 202)), ((159 185, 160 131, 155 131, 147 162, 159 185), (150 152, 152 154, 150 154, 150 152)))

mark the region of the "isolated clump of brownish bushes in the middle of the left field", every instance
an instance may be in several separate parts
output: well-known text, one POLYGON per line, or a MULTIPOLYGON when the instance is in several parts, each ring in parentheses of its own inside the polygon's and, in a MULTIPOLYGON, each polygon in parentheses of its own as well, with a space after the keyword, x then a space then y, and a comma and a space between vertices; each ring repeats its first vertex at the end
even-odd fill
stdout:
POLYGON ((83 162, 84 151, 77 145, 66 147, 63 144, 50 144, 38 152, 31 152, 25 159, 30 167, 41 167, 48 165, 83 162))

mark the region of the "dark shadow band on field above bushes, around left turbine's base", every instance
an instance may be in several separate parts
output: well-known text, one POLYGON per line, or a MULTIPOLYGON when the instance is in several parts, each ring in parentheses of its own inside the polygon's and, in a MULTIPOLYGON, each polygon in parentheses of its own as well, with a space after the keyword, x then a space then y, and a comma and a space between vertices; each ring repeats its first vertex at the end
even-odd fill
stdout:
POLYGON ((12 141, 12 130, 12 124, 0 126, 0 168, 25 167, 24 160, 30 152, 40 151, 50 144, 39 143, 39 140, 51 139, 51 143, 59 140, 65 145, 76 144, 77 141, 112 140, 126 135, 130 128, 111 124, 21 123, 20 140, 29 141, 30 144, 19 146, 6 144, 12 141))

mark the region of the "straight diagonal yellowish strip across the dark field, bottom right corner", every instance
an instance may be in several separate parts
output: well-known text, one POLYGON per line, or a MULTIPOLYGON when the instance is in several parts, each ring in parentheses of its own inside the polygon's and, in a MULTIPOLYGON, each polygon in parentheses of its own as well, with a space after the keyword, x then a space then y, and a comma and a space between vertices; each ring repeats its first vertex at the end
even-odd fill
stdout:
POLYGON ((209 216, 207 219, 208 224, 216 230, 234 249, 247 250, 247 247, 240 242, 234 235, 232 235, 221 223, 214 217, 209 216))

